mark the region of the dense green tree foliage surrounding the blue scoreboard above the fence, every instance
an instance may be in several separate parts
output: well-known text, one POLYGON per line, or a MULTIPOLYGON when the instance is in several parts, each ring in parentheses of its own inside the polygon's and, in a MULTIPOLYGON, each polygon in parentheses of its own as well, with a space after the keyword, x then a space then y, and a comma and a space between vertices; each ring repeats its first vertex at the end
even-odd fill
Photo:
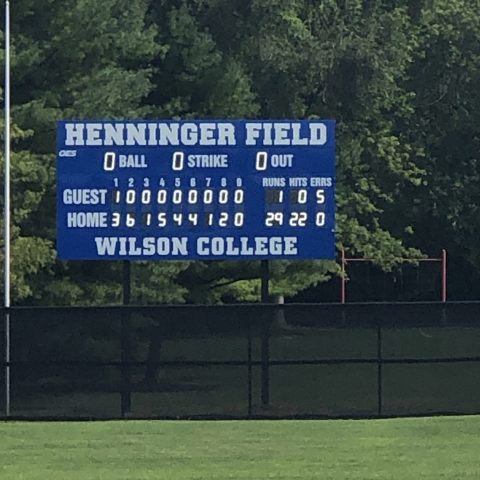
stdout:
MULTIPOLYGON (((55 260, 55 121, 74 117, 335 118, 338 246, 386 270, 446 247, 475 271, 479 12, 472 0, 15 1, 15 302, 121 299, 120 263, 55 260)), ((133 267, 138 303, 259 295, 258 262, 133 267)), ((337 271, 273 262, 272 289, 292 296, 337 271)))

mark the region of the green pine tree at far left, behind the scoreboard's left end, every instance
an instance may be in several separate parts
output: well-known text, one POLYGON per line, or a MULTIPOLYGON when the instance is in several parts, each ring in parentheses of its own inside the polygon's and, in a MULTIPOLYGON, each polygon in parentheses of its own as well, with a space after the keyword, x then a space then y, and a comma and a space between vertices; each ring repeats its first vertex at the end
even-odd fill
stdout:
POLYGON ((52 262, 55 122, 148 113, 142 101, 152 89, 152 61, 164 48, 147 7, 144 0, 19 0, 12 6, 12 115, 29 132, 17 137, 15 151, 23 153, 12 162, 13 220, 24 239, 12 252, 16 300, 92 304, 121 298, 119 264, 52 262))

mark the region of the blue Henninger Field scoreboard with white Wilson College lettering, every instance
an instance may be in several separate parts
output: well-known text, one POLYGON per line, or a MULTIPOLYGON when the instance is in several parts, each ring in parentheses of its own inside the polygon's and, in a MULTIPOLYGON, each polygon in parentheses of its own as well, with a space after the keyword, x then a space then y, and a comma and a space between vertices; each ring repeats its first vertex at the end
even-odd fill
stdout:
POLYGON ((72 260, 331 259, 332 120, 61 121, 72 260))

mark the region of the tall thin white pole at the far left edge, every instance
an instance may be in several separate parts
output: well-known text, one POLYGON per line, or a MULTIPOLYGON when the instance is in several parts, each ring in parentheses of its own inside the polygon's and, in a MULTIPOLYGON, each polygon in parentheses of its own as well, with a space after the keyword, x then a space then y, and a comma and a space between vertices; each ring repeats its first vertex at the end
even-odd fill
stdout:
POLYGON ((5 415, 10 415, 10 2, 5 2, 5 180, 4 180, 4 296, 5 296, 5 415))

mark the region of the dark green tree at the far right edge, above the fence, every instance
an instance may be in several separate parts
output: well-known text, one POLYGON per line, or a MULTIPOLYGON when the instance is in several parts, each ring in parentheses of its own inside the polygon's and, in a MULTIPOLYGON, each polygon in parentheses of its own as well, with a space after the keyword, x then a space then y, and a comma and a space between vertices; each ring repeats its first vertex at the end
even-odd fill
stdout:
POLYGON ((420 189, 407 190, 412 201, 401 214, 414 226, 419 248, 448 249, 451 291, 462 298, 480 293, 475 287, 480 265, 476 7, 463 0, 418 2, 418 48, 405 81, 415 95, 415 117, 406 130, 422 144, 419 166, 426 175, 420 189))

